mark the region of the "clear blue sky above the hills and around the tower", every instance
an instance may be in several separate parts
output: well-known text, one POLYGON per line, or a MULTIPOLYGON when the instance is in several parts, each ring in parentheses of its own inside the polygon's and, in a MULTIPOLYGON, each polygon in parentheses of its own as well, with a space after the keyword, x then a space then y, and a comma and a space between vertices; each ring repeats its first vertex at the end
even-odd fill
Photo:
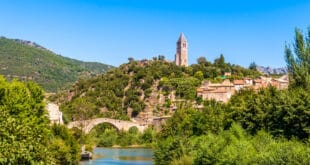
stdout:
POLYGON ((285 43, 309 17, 309 0, 0 0, 0 36, 118 66, 128 57, 173 60, 184 32, 190 63, 222 53, 245 67, 281 67, 285 43))

